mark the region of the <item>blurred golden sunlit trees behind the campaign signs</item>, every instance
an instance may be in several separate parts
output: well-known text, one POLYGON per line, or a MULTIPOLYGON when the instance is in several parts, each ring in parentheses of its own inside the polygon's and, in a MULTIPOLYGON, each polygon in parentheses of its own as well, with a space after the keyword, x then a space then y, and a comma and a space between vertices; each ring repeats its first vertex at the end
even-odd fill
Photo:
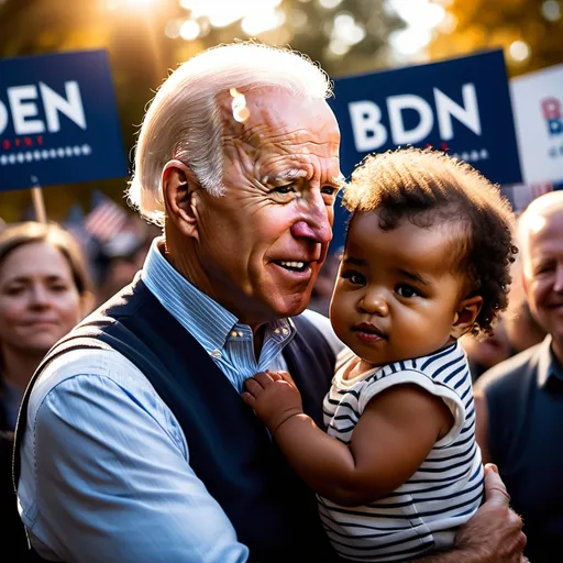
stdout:
MULTIPOLYGON (((179 63, 218 43, 255 37, 289 45, 334 78, 503 47, 515 77, 563 62, 563 2, 0 0, 0 58, 106 48, 131 166, 154 91, 179 63)), ((129 212, 126 180, 51 186, 47 216, 67 221, 76 206, 88 212, 102 196, 129 212)), ((33 218, 30 190, 2 192, 0 217, 33 218)))

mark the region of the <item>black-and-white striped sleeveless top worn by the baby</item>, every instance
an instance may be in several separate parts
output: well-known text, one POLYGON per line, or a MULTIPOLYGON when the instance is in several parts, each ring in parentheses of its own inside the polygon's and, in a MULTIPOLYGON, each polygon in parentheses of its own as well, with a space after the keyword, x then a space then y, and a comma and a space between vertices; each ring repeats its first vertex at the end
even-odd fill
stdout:
POLYGON ((475 441, 475 408, 465 352, 459 343, 343 379, 354 355, 345 350, 323 404, 327 433, 350 443, 367 402, 398 384, 441 397, 454 423, 398 489, 367 506, 342 507, 318 495, 323 527, 339 555, 352 561, 404 561, 453 544, 455 529, 481 506, 484 472, 475 441))

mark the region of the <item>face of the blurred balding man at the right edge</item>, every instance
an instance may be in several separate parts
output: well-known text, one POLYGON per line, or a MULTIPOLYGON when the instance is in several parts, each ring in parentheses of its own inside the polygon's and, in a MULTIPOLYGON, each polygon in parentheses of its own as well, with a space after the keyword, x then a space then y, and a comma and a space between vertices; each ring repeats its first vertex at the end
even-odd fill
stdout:
POLYGON ((533 218, 522 258, 530 310, 563 357, 563 207, 533 218))

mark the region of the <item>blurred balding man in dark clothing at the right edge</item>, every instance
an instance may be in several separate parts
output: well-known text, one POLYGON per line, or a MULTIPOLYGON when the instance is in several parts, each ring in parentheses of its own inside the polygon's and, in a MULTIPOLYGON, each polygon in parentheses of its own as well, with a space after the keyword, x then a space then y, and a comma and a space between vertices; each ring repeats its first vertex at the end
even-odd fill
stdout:
POLYGON ((543 563, 563 558, 563 191, 527 208, 519 240, 523 289, 548 336, 479 378, 477 440, 523 517, 528 558, 543 563))

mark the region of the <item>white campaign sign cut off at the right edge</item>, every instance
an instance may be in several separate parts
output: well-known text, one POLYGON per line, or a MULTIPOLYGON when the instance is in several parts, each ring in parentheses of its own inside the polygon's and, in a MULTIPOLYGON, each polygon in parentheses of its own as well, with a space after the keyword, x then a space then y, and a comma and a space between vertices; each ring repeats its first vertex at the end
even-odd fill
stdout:
POLYGON ((563 65, 510 80, 523 179, 563 180, 563 65))

